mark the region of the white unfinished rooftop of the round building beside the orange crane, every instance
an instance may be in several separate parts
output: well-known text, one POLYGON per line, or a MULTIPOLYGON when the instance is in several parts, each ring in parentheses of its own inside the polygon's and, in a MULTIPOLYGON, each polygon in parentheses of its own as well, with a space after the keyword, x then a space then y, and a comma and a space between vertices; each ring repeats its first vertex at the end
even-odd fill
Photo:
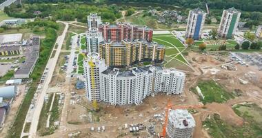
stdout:
POLYGON ((194 128, 196 123, 194 117, 188 112, 188 110, 171 110, 169 115, 169 120, 174 125, 174 128, 194 128))

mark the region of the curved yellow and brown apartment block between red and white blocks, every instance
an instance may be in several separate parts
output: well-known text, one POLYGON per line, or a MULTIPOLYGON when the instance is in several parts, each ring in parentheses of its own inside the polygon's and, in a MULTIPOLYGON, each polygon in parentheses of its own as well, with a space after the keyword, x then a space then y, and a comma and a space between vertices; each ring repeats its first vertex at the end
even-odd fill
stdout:
POLYGON ((125 67, 143 61, 161 63, 165 56, 165 47, 148 41, 102 41, 99 45, 101 58, 107 66, 125 67))

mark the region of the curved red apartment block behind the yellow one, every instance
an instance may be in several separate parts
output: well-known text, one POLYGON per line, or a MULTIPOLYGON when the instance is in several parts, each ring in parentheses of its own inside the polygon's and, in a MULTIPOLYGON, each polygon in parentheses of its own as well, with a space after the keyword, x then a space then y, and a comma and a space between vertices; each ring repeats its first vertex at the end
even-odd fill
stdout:
POLYGON ((103 34, 105 41, 134 41, 135 39, 152 41, 153 30, 146 26, 139 27, 130 23, 103 23, 99 26, 99 31, 103 34))

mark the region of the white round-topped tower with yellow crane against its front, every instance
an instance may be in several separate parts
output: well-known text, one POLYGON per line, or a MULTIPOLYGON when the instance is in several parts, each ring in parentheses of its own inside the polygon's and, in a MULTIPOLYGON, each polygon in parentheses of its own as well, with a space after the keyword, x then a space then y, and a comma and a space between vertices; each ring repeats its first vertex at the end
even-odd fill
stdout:
POLYGON ((98 53, 91 52, 88 54, 87 60, 83 61, 85 73, 85 90, 86 97, 89 101, 96 99, 101 101, 100 95, 100 75, 106 70, 105 61, 99 57, 98 53))

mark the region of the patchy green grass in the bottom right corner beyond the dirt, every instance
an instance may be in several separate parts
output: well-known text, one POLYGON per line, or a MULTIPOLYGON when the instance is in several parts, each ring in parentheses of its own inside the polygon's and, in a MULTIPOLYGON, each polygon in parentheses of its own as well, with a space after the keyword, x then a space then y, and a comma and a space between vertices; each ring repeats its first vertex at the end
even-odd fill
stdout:
POLYGON ((234 112, 244 119, 243 126, 232 126, 220 119, 215 114, 210 119, 203 121, 204 128, 208 128, 208 133, 213 138, 253 138, 262 137, 262 109, 253 104, 236 105, 234 112), (257 116, 258 115, 258 116, 257 116), (260 119, 258 121, 257 119, 260 119))

